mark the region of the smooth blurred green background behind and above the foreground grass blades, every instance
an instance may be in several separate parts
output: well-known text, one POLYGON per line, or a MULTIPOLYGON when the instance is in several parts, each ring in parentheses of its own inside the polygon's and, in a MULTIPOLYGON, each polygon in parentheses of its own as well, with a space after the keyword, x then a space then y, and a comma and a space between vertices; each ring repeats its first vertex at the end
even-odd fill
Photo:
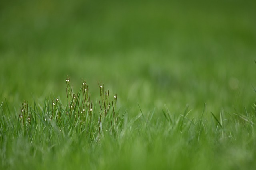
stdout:
MULTIPOLYGON (((87 79, 130 114, 186 104, 250 107, 256 86, 255 0, 1 0, 0 102, 66 99, 87 79)), ((160 112, 159 112, 160 113, 160 112)))

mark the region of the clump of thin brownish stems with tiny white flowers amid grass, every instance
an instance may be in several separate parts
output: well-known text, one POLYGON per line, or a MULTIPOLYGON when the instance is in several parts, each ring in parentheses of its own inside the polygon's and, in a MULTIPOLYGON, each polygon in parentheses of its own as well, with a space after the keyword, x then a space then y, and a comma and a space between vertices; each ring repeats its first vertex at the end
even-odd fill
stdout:
MULTIPOLYGON (((118 122, 118 113, 116 113, 117 94, 110 98, 109 90, 104 89, 103 82, 98 83, 100 88, 100 108, 95 109, 96 104, 93 105, 90 99, 89 87, 86 80, 82 80, 82 85, 78 93, 73 92, 73 86, 70 77, 66 78, 66 96, 67 104, 62 105, 59 98, 45 102, 42 109, 42 114, 33 114, 37 122, 45 122, 45 125, 57 125, 60 129, 62 127, 79 127, 79 131, 90 131, 92 133, 100 134, 101 131, 114 131, 115 125, 118 122), (97 119, 97 112, 99 113, 97 119), (42 120, 41 120, 42 119, 42 120), (46 123, 49 122, 49 123, 46 123)), ((24 101, 19 115, 20 123, 25 126, 31 123, 31 106, 24 101)), ((92 134, 91 133, 91 134, 92 134)))

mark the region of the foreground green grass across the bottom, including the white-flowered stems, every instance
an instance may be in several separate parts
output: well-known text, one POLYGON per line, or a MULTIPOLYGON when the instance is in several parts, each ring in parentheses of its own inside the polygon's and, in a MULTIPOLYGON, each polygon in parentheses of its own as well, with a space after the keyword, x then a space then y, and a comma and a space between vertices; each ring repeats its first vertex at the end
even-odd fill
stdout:
POLYGON ((131 117, 116 110, 117 94, 98 85, 93 103, 86 81, 74 93, 66 78, 67 103, 24 101, 11 113, 1 104, 3 169, 253 169, 256 106, 243 113, 162 115, 155 111, 131 117), (111 96, 111 97, 110 97, 111 96))

